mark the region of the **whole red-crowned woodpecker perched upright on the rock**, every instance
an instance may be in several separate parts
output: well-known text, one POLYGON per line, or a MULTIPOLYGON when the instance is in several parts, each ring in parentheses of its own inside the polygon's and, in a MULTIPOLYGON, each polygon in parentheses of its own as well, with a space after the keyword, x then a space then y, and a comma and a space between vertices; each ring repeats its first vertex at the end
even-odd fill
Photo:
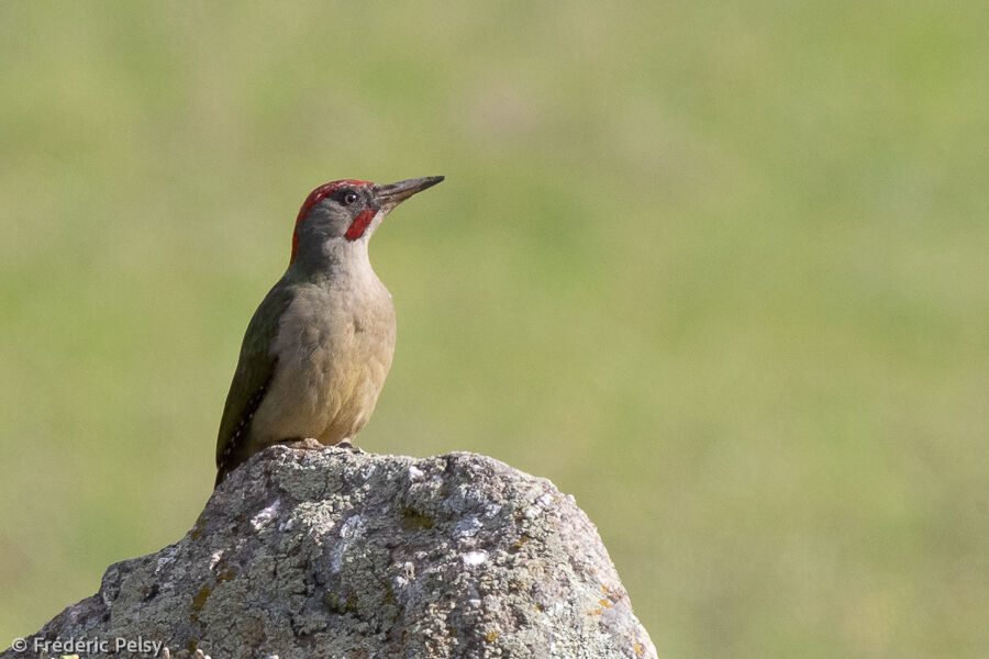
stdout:
POLYGON ((288 269, 241 345, 216 438, 215 485, 273 444, 333 446, 367 423, 396 333, 391 293, 371 268, 367 244, 395 206, 442 180, 343 179, 305 198, 288 269))

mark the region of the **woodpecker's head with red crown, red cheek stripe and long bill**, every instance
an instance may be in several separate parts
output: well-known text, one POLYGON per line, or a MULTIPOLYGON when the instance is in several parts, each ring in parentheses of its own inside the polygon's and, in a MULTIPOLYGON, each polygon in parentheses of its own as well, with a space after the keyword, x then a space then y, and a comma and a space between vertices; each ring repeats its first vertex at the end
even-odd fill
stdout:
POLYGON ((387 186, 354 179, 323 183, 299 209, 289 263, 302 250, 322 252, 327 242, 366 245, 395 206, 442 180, 442 176, 427 176, 387 186))

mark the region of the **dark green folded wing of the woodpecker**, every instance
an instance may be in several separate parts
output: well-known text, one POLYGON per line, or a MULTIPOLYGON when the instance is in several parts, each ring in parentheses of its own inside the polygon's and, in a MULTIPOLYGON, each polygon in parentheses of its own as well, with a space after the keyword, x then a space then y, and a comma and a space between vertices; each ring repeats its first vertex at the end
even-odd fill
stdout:
POLYGON ((251 457, 247 454, 251 420, 265 399, 275 375, 278 357, 271 354, 270 348, 278 335, 281 315, 293 297, 292 287, 282 279, 268 291, 247 325, 216 436, 218 485, 237 465, 251 457))

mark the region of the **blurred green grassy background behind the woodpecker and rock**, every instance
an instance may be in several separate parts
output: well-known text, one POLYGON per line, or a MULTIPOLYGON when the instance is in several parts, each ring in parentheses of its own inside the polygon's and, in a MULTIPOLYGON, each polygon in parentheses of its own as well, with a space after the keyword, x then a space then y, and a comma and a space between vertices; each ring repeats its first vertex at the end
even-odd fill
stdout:
POLYGON ((179 539, 335 178, 373 451, 600 529, 668 657, 989 651, 985 3, 0 4, 0 646, 179 539))

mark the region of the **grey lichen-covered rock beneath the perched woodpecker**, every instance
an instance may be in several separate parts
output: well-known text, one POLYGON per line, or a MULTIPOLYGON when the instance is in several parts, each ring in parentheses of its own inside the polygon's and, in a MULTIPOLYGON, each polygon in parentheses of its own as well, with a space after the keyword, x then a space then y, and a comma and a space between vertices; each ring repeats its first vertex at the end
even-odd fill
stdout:
POLYGON ((594 526, 549 481, 467 453, 280 446, 35 638, 214 659, 656 656, 594 526))

